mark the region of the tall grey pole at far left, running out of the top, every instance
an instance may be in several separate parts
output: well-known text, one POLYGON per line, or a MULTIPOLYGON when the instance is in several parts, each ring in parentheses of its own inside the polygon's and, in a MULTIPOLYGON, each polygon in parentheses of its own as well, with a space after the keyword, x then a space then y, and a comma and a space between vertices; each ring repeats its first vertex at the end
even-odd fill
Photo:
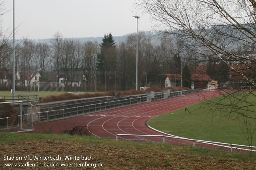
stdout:
POLYGON ((14 0, 13 0, 13 23, 12 23, 12 100, 15 101, 15 11, 14 11, 14 0))

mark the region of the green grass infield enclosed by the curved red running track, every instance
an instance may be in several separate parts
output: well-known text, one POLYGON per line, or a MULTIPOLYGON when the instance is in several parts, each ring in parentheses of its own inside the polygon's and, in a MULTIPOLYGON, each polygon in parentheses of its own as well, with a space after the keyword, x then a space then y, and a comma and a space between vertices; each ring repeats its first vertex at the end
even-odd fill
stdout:
MULTIPOLYGON (((212 100, 215 100, 216 102, 221 99, 222 97, 217 97, 212 100)), ((254 98, 248 98, 248 100, 255 102, 253 101, 254 98)), ((226 101, 225 104, 227 103, 228 102, 226 101)), ((185 112, 185 108, 182 108, 180 110, 152 118, 149 121, 149 125, 162 132, 176 136, 198 140, 249 145, 246 138, 247 127, 244 124, 245 119, 242 116, 237 116, 237 114, 228 114, 229 112, 232 112, 231 109, 227 109, 227 112, 223 112, 223 110, 212 111, 210 110, 209 104, 206 105, 204 102, 194 104, 186 108, 191 114, 188 111, 185 112)), ((251 106, 250 108, 248 107, 248 109, 255 110, 255 107, 251 106)), ((247 112, 247 114, 255 113, 247 112)), ((251 121, 254 124, 251 127, 256 128, 256 120, 251 121)), ((255 131, 256 129, 252 129, 252 132, 254 132, 252 146, 256 146, 255 131)))

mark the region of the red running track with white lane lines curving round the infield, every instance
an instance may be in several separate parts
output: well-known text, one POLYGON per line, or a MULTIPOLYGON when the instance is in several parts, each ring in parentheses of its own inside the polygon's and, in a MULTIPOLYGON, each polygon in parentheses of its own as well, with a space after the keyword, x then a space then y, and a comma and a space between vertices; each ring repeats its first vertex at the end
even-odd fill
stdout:
MULTIPOLYGON (((144 104, 137 104, 113 110, 76 116, 52 122, 34 125, 36 133, 52 132, 62 133, 67 128, 78 126, 87 126, 94 136, 100 138, 116 139, 116 134, 150 134, 163 135, 148 128, 146 121, 155 116, 172 112, 179 108, 196 104, 206 99, 220 95, 218 92, 200 92, 186 96, 178 96, 144 104)), ((120 136, 118 140, 130 140, 132 142, 163 142, 162 137, 145 137, 145 136, 120 136)), ((166 143, 174 145, 192 145, 193 142, 184 139, 165 138, 166 143)), ((221 150, 230 150, 211 144, 202 144, 196 142, 198 147, 214 148, 221 150)))

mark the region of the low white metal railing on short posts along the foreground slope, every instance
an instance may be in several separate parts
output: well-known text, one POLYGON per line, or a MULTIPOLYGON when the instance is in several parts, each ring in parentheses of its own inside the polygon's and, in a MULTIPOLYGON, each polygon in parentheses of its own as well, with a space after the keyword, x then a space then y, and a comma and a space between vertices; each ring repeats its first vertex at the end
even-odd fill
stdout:
POLYGON ((247 146, 247 145, 240 145, 240 144, 228 144, 223 142, 212 142, 207 140, 196 140, 196 139, 188 139, 188 138, 182 138, 182 137, 174 137, 174 136, 166 136, 166 135, 144 135, 144 134, 116 134, 116 141, 118 141, 118 136, 151 136, 151 137, 162 137, 163 143, 165 143, 165 138, 175 138, 175 139, 183 139, 183 140, 189 140, 193 141, 193 146, 196 146, 196 142, 204 143, 204 144, 217 144, 217 146, 230 148, 230 152, 233 152, 233 149, 240 149, 240 150, 246 150, 246 151, 252 151, 256 152, 256 150, 252 149, 244 149, 244 148, 256 148, 256 146, 247 146), (238 147, 244 147, 244 148, 237 148, 238 147))

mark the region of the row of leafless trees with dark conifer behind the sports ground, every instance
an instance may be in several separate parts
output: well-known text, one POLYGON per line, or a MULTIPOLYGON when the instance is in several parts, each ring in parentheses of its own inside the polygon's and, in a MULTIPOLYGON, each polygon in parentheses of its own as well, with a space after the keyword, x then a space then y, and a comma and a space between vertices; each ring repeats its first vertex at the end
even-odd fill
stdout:
MULTIPOLYGON (((12 68, 12 48, 2 58, 2 67, 12 68)), ((20 84, 29 86, 31 74, 39 72, 40 82, 47 82, 50 73, 57 71, 56 82, 61 72, 69 72, 73 80, 77 69, 86 74, 87 90, 129 90, 136 82, 136 34, 128 35, 124 42, 116 44, 111 33, 105 34, 102 43, 67 39, 56 32, 51 44, 36 43, 24 39, 15 47, 16 70, 20 84)), ((185 51, 185 50, 184 50, 185 51)), ((183 51, 183 52, 184 52, 183 51)), ((181 74, 180 42, 174 38, 157 38, 148 32, 138 33, 138 85, 157 85, 164 88, 166 74, 181 74)), ((184 60, 187 63, 188 60, 184 60)), ((85 84, 83 85, 85 86, 85 84)), ((29 88, 28 88, 29 89, 29 88)))

